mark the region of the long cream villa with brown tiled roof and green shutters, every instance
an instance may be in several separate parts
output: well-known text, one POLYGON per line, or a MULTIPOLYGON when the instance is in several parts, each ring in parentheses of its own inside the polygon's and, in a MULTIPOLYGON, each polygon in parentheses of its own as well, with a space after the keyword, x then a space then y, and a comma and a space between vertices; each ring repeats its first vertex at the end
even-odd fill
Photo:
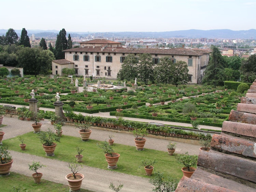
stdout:
POLYGON ((209 51, 186 48, 125 48, 120 42, 95 39, 80 43, 79 48, 63 50, 65 59, 52 61, 53 75, 62 74, 63 68, 74 68, 76 76, 116 78, 128 54, 151 54, 155 64, 161 57, 169 56, 172 62, 188 64, 189 83, 200 83, 209 62, 209 51))

